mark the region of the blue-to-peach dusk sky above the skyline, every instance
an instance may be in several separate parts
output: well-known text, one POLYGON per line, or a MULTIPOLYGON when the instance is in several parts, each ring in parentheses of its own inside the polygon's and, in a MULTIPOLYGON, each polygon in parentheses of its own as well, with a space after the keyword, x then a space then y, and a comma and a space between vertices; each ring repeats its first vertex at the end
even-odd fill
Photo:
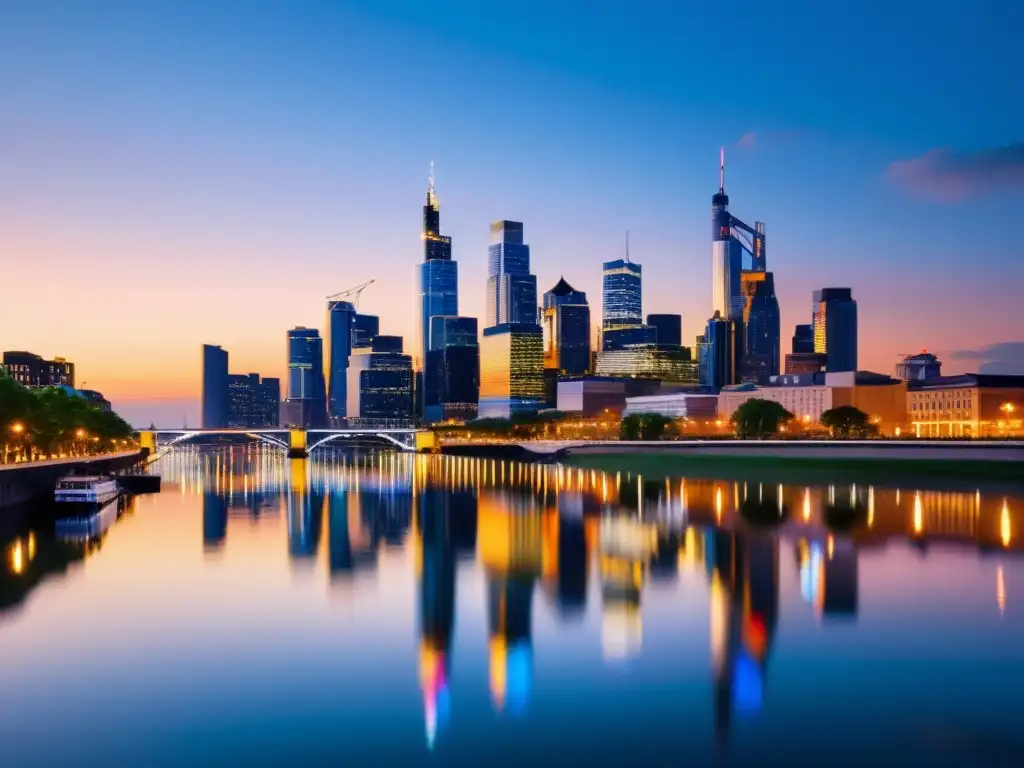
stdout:
POLYGON ((862 369, 1024 373, 1022 27, 1015 0, 4 2, 0 349, 163 426, 199 423, 203 343, 282 376, 288 329, 370 279, 409 351, 431 161, 461 313, 490 221, 595 323, 628 229, 644 312, 692 340, 724 146, 783 351, 848 286, 862 369))

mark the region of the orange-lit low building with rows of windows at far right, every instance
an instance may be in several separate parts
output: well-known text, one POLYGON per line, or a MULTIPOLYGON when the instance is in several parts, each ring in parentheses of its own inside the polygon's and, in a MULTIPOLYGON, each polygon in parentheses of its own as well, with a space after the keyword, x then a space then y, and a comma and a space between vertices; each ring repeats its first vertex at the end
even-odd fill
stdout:
POLYGON ((964 374, 911 381, 906 408, 920 437, 1020 435, 1024 376, 964 374))

